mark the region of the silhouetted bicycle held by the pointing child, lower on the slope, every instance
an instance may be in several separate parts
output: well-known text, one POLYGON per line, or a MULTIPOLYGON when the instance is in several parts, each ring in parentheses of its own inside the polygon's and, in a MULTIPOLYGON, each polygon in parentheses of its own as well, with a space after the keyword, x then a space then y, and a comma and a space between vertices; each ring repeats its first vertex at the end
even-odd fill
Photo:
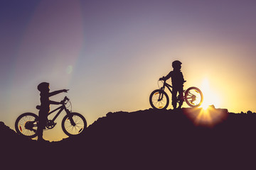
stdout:
MULTIPOLYGON (((70 99, 65 96, 63 101, 61 101, 62 105, 53 111, 50 111, 48 113, 48 116, 52 113, 55 113, 55 111, 58 111, 54 118, 52 120, 47 120, 46 128, 44 130, 50 130, 53 129, 56 125, 54 122, 56 118, 58 118, 58 115, 64 110, 67 115, 64 116, 61 128, 63 129, 63 132, 65 132, 68 136, 74 136, 82 134, 82 132, 85 132, 85 128, 87 128, 87 122, 85 118, 80 113, 72 112, 72 105, 70 102, 70 99), (71 109, 70 111, 66 107, 67 103, 70 103, 71 109)), ((36 106, 38 110, 40 110, 41 106, 36 106)), ((37 129, 38 129, 38 115, 35 113, 23 113, 18 116, 15 122, 15 129, 16 132, 20 135, 26 136, 26 137, 36 137, 37 136, 37 129)))

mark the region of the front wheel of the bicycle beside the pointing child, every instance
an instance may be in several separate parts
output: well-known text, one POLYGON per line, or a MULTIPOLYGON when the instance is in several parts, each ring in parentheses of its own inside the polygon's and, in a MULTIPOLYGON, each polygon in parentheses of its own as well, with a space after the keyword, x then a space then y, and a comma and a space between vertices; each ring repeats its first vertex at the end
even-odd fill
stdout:
POLYGON ((63 128, 65 135, 74 136, 85 132, 87 123, 80 113, 71 113, 71 115, 65 115, 61 123, 61 127, 63 128))

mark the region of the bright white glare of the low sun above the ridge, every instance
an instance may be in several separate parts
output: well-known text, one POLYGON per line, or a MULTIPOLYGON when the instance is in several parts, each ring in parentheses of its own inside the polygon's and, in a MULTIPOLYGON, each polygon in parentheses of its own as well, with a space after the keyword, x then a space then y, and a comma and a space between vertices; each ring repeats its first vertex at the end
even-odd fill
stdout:
POLYGON ((215 106, 215 108, 220 106, 220 98, 218 97, 218 94, 210 88, 208 79, 203 80, 200 89, 203 92, 203 103, 201 107, 204 110, 208 109, 208 107, 212 105, 215 106))

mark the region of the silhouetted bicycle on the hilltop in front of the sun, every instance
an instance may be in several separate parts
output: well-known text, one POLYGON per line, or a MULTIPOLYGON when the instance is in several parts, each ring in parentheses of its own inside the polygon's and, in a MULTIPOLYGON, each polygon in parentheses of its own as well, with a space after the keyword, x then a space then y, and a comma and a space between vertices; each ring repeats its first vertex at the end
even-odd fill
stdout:
MULTIPOLYGON (((150 96, 149 96, 149 103, 152 108, 154 109, 166 109, 169 106, 169 96, 164 91, 165 87, 169 89, 169 91, 172 94, 172 86, 164 80, 159 80, 163 82, 163 86, 159 86, 159 89, 154 90, 150 96)), ((158 81, 158 82, 159 82, 158 81)), ((184 81, 186 82, 186 81, 184 81)), ((158 83, 159 85, 159 83, 158 83)), ((190 87, 187 90, 183 90, 183 98, 176 99, 177 102, 179 101, 186 101, 188 106, 192 108, 196 108, 198 106, 201 106, 203 103, 203 93, 200 89, 197 87, 190 87)))

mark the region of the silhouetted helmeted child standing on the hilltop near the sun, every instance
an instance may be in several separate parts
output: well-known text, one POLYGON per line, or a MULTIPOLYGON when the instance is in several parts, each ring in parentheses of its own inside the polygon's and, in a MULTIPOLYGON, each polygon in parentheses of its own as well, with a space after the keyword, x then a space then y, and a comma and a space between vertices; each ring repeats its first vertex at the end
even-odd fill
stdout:
MULTIPOLYGON (((174 107, 174 109, 176 109, 176 106, 177 106, 177 93, 178 93, 178 98, 183 98, 183 83, 185 81, 183 78, 183 74, 181 72, 181 64, 182 63, 178 60, 175 60, 174 62, 172 62, 172 67, 174 68, 174 70, 169 72, 169 74, 166 77, 162 77, 159 79, 159 80, 166 81, 171 77, 171 84, 173 86, 171 104, 174 107)), ((181 108, 182 104, 183 104, 183 100, 181 100, 178 103, 178 108, 181 108)))

